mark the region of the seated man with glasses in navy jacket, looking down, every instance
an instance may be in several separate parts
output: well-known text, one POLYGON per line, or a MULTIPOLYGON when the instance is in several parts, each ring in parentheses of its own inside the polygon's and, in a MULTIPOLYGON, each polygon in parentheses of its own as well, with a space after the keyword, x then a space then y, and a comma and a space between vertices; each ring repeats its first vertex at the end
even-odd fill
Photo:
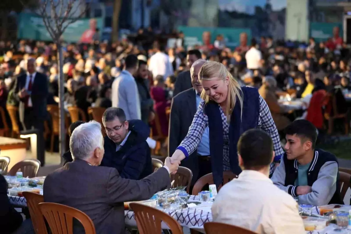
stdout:
POLYGON ((146 139, 150 128, 141 120, 126 121, 123 109, 111 107, 102 115, 106 129, 101 166, 114 167, 122 178, 141 180, 152 173, 146 139))

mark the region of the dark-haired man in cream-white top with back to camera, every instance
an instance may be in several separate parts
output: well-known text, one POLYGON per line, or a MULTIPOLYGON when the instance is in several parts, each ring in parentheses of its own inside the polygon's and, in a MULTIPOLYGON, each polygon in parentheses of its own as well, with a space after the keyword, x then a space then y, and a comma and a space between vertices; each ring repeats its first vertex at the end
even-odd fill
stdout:
POLYGON ((224 185, 213 206, 213 222, 227 223, 259 234, 300 234, 305 228, 297 202, 269 179, 273 141, 260 129, 240 136, 238 179, 224 185))

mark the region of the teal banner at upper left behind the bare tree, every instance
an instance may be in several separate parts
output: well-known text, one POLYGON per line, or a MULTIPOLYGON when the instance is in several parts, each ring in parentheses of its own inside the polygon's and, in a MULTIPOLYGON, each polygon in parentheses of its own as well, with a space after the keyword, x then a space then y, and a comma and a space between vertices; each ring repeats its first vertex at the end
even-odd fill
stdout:
MULTIPOLYGON (((95 29, 100 29, 101 36, 103 26, 101 18, 79 18, 74 23, 68 25, 62 35, 62 39, 67 42, 91 43, 95 29)), ((42 18, 31 13, 21 13, 19 15, 17 37, 19 39, 52 41, 42 18)))

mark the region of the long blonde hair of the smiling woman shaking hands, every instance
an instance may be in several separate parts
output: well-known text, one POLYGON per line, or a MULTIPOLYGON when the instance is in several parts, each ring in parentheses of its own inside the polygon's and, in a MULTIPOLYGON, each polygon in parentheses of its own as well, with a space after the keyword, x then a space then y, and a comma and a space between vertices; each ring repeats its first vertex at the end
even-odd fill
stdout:
MULTIPOLYGON (((227 95, 227 105, 225 109, 225 115, 228 117, 232 114, 237 98, 239 99, 241 106, 241 114, 243 113, 243 96, 239 83, 233 78, 232 74, 227 70, 227 68, 219 62, 206 62, 200 68, 199 71, 199 81, 202 83, 203 80, 223 80, 229 77, 228 84, 228 95, 227 95)), ((206 94, 203 89, 201 93, 201 98, 205 100, 205 103, 210 101, 210 96, 206 94)), ((241 118, 241 116, 240 116, 241 118)))

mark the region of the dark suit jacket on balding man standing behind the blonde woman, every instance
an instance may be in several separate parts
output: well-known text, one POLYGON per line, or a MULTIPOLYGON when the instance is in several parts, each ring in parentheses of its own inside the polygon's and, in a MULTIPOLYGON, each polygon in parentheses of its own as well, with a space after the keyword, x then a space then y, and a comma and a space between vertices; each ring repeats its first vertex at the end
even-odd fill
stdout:
MULTIPOLYGON (((194 88, 181 92, 172 99, 169 134, 168 134, 168 155, 172 156, 180 145, 181 141, 188 134, 189 127, 196 113, 196 93, 194 88)), ((181 166, 191 169, 194 185, 199 175, 199 162, 197 151, 189 155, 186 160, 181 161, 181 166)))

